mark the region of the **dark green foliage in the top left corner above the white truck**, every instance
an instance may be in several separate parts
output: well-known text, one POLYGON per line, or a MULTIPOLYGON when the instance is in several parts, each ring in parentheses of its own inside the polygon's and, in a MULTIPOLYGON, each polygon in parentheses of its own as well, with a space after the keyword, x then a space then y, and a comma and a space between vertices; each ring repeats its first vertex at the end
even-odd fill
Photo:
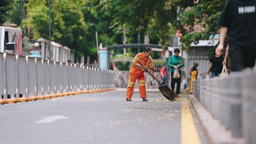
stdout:
POLYGON ((0 25, 2 25, 6 19, 6 12, 11 9, 13 0, 0 0, 0 25))

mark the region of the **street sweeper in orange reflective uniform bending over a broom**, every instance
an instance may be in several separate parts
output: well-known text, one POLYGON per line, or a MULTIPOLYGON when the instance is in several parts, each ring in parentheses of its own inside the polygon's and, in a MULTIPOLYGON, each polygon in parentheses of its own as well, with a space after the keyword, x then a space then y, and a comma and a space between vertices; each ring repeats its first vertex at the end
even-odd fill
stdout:
POLYGON ((147 95, 146 95, 146 86, 145 86, 145 77, 144 77, 144 71, 146 68, 149 68, 150 73, 155 77, 154 74, 154 66, 152 64, 151 59, 149 56, 151 55, 152 50, 150 48, 145 48, 143 53, 138 53, 135 58, 132 61, 132 67, 129 71, 129 80, 127 85, 127 94, 126 94, 126 101, 131 101, 131 97, 134 90, 135 81, 138 79, 138 86, 140 90, 140 97, 142 98, 142 101, 147 101, 147 95), (141 66, 142 64, 143 66, 141 66))

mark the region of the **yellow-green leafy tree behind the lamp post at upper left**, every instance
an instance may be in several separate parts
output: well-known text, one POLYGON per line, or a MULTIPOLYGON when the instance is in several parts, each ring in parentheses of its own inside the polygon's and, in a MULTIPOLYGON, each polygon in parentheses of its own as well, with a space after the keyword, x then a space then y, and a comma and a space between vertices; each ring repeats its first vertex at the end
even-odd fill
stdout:
MULTIPOLYGON (((88 52, 85 47, 88 27, 82 13, 84 5, 83 0, 51 1, 51 40, 76 50, 80 55, 88 52)), ((25 28, 31 28, 31 39, 48 39, 48 0, 29 0, 25 7, 27 17, 23 25, 25 28)))

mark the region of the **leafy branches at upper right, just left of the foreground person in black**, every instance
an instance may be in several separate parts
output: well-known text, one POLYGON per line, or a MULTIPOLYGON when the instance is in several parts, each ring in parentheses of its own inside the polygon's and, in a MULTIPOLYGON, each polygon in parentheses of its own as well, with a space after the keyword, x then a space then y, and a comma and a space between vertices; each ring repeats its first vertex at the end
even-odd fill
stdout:
POLYGON ((184 49, 188 49, 192 42, 197 44, 199 40, 209 40, 211 35, 218 33, 217 21, 227 0, 194 1, 169 0, 165 5, 165 9, 180 7, 180 20, 173 21, 173 25, 182 32, 180 41, 184 49))

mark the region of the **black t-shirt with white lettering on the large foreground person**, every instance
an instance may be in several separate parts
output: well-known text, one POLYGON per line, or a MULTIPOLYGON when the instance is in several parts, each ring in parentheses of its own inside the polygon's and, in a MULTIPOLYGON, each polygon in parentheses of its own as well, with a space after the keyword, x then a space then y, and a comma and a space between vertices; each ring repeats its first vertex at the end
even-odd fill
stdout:
POLYGON ((240 48, 256 48, 256 0, 228 0, 219 26, 228 27, 229 43, 240 48))

